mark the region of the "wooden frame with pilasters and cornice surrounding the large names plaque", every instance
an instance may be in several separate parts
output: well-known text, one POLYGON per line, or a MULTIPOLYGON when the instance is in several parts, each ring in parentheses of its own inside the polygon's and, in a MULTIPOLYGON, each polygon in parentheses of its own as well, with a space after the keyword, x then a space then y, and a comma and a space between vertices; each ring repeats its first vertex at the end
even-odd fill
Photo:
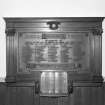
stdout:
MULTIPOLYGON (((84 18, 4 18, 6 21, 6 33, 7 33, 7 77, 6 81, 16 81, 20 80, 21 74, 17 73, 17 36, 21 32, 46 32, 46 33, 87 33, 90 36, 90 46, 91 51, 94 53, 90 54, 91 58, 91 69, 90 72, 84 72, 82 77, 85 74, 91 75, 91 80, 102 81, 101 76, 101 34, 102 34, 102 21, 104 17, 84 17, 84 18), (47 22, 60 22, 58 29, 51 30, 47 22), (96 38, 97 37, 97 38, 96 38), (97 42, 97 45, 96 45, 97 42), (95 45, 94 45, 95 43, 95 45), (97 46, 100 50, 98 50, 97 46), (94 50, 93 50, 94 49, 94 50), (98 55, 98 56, 97 56, 98 55), (14 66, 12 66, 14 65, 14 66), (94 66, 93 66, 94 65, 94 66), (94 68, 95 67, 95 68, 94 68), (19 78, 18 78, 19 77, 19 78)), ((71 75, 74 73, 71 73, 71 75)), ((76 73, 75 73, 76 74, 76 73)), ((81 75, 81 74, 78 74, 81 75)), ((32 77, 32 74, 23 74, 24 80, 26 77, 32 77), (26 75, 26 76, 25 76, 26 75)), ((32 77, 34 78, 34 77, 32 77)), ((32 79, 31 78, 31 79, 32 79)), ((82 78, 81 78, 82 79, 82 78)), ((85 79, 85 78, 83 78, 85 79)))

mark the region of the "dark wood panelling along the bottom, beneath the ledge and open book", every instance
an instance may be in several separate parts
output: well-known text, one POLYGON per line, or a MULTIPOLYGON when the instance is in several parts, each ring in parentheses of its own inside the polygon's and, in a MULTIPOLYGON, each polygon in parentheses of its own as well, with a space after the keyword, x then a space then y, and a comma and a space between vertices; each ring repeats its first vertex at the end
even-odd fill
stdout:
POLYGON ((105 105, 105 87, 74 86, 68 96, 35 94, 35 86, 8 86, 5 105, 105 105))

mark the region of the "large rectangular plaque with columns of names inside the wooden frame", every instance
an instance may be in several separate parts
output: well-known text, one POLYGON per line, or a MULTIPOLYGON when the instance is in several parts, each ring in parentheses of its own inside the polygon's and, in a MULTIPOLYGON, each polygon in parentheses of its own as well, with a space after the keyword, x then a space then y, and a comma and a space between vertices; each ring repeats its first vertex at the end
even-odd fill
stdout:
POLYGON ((21 33, 19 70, 86 70, 89 51, 85 33, 21 33))

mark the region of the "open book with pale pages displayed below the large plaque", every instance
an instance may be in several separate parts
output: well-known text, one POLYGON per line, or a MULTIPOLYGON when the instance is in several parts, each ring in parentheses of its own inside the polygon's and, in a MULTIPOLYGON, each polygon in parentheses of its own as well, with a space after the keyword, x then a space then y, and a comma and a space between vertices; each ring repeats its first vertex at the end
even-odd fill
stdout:
POLYGON ((41 94, 67 94, 68 82, 67 72, 42 72, 41 94))

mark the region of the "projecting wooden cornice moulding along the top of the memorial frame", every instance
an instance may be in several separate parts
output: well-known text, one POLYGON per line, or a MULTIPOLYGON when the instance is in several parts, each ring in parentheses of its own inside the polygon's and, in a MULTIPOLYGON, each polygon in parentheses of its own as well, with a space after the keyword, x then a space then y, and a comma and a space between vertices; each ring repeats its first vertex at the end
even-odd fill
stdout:
POLYGON ((43 23, 48 21, 60 21, 60 22, 101 22, 104 17, 26 17, 26 18, 10 18, 4 17, 6 23, 43 23))

